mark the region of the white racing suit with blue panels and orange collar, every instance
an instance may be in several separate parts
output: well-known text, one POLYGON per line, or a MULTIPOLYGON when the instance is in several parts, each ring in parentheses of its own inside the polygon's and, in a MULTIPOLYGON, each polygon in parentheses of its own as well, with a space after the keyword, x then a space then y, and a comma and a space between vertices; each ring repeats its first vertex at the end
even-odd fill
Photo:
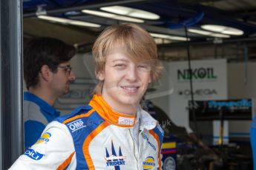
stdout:
POLYGON ((163 130, 151 115, 138 110, 137 145, 132 135, 135 117, 114 112, 94 95, 88 106, 49 123, 10 169, 160 169, 163 130))

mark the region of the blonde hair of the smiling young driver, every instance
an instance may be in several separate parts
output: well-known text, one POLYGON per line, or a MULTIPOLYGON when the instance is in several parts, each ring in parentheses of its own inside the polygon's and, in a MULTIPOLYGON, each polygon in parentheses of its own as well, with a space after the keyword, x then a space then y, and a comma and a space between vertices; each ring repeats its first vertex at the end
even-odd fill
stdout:
MULTIPOLYGON (((93 44, 96 77, 104 71, 106 56, 114 46, 125 50, 132 61, 146 61, 151 65, 151 80, 160 78, 163 64, 157 59, 157 45, 151 35, 137 24, 119 24, 106 28, 93 44)), ((103 81, 99 81, 93 94, 101 95, 103 81)))

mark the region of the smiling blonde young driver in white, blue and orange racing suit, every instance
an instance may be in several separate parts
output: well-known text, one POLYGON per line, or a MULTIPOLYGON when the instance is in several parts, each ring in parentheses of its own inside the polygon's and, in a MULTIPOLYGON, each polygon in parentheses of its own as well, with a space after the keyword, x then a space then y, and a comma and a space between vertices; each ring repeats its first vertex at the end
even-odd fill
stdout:
POLYGON ((163 69, 136 24, 108 27, 93 45, 99 84, 87 106, 56 118, 11 169, 160 169, 163 131, 141 109, 163 69))

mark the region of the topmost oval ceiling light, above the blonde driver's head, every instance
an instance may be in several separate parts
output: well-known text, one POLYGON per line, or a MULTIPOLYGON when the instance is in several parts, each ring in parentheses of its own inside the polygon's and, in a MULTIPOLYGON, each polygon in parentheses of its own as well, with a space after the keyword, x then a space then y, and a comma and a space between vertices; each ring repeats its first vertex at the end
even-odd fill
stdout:
POLYGON ((159 19, 155 13, 150 13, 145 10, 137 10, 131 7, 121 7, 121 6, 110 6, 110 7, 101 7, 100 10, 108 11, 109 13, 116 13, 123 16, 131 16, 135 18, 143 18, 143 19, 159 19))

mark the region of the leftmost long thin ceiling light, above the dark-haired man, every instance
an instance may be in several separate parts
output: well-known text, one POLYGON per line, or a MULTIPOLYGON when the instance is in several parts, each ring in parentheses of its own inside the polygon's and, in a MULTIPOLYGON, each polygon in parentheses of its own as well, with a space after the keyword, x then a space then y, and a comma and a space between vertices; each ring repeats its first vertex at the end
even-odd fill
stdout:
POLYGON ((77 21, 67 18, 59 18, 59 17, 53 17, 53 16, 37 16, 40 19, 45 19, 47 21, 54 21, 59 22, 62 24, 73 24, 73 25, 79 25, 83 27, 101 27, 99 24, 93 24, 91 22, 85 22, 85 21, 77 21))

